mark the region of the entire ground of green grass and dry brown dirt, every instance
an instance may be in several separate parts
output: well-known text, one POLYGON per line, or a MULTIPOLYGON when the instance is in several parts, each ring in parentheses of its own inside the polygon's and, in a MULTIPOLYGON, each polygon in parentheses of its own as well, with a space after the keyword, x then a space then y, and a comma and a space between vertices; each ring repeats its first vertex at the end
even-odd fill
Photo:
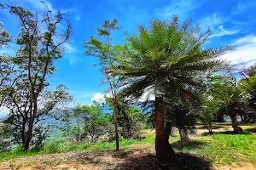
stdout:
MULTIPOLYGON (((202 165, 206 167, 219 167, 234 162, 250 162, 256 165, 256 124, 244 124, 241 127, 245 131, 243 134, 232 133, 230 124, 214 124, 214 133, 212 134, 208 134, 206 129, 198 127, 197 134, 190 136, 191 144, 183 146, 180 144, 178 137, 172 137, 172 147, 178 153, 177 158, 183 163, 183 166, 191 166, 191 160, 198 162, 199 167, 203 167, 202 165)), ((140 141, 121 139, 120 146, 122 150, 119 152, 114 151, 115 143, 51 143, 27 152, 22 152, 20 148, 16 148, 9 152, 0 153, 0 161, 2 163, 8 162, 9 164, 15 164, 14 158, 20 157, 19 159, 23 161, 31 162, 30 159, 33 156, 33 158, 37 158, 37 162, 40 165, 44 166, 57 166, 56 162, 63 164, 63 162, 68 161, 69 163, 73 162, 73 166, 92 165, 92 167, 83 167, 85 169, 97 169, 96 167, 102 168, 102 166, 112 169, 113 167, 122 167, 124 163, 128 167, 133 167, 135 164, 144 167, 144 164, 147 164, 150 165, 148 169, 157 169, 158 167, 154 167, 156 164, 152 164, 155 161, 154 130, 143 131, 143 136, 145 139, 140 141), (45 159, 42 158, 44 155, 47 155, 45 159), (133 159, 134 157, 136 160, 133 159), (70 161, 70 159, 73 161, 70 161), (142 162, 144 164, 141 164, 142 162)), ((188 167, 188 169, 200 169, 196 167, 196 163, 192 164, 195 164, 195 167, 188 167)), ((81 167, 80 169, 83 168, 81 167)), ((135 167, 131 169, 139 168, 135 167)), ((183 169, 186 168, 183 167, 183 169)))

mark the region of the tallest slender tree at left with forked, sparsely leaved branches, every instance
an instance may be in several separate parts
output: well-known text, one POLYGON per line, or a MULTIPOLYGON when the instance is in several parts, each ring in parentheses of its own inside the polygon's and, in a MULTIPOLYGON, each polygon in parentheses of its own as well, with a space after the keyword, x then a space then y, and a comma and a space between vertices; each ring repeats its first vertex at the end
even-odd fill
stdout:
POLYGON ((26 89, 24 92, 29 97, 27 99, 30 109, 28 112, 23 112, 23 116, 28 120, 24 143, 24 148, 27 150, 32 142, 40 98, 44 89, 49 86, 48 77, 55 71, 55 60, 63 56, 64 48, 61 45, 69 39, 72 26, 65 14, 61 14, 61 11, 51 12, 46 4, 44 12, 33 12, 15 4, 2 5, 2 7, 15 15, 20 24, 20 33, 15 38, 19 48, 12 59, 15 68, 22 72, 20 85, 22 89, 26 89), (58 31, 57 27, 61 24, 65 27, 65 31, 58 31))

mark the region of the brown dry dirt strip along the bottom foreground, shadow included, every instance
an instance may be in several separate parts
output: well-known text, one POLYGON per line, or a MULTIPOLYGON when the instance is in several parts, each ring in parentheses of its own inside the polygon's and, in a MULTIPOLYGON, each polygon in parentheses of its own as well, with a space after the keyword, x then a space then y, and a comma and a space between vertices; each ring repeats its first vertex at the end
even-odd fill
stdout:
POLYGON ((211 163, 189 154, 177 153, 180 162, 176 168, 163 166, 156 161, 151 146, 133 145, 129 149, 114 151, 68 152, 54 155, 22 157, 0 162, 0 169, 20 170, 103 170, 103 169, 209 169, 256 170, 249 162, 212 167, 211 163))

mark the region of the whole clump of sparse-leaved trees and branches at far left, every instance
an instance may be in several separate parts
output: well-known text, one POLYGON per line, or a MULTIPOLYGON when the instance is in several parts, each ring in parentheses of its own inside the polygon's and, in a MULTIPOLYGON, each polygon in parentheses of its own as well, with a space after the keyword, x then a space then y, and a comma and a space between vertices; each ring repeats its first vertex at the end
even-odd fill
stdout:
MULTIPOLYGON (((0 107, 9 109, 7 122, 11 124, 12 137, 25 150, 42 144, 49 130, 43 125, 45 119, 55 118, 52 111, 71 100, 64 86, 49 91, 48 77, 55 71, 55 60, 63 56, 61 45, 69 39, 72 27, 65 14, 52 14, 44 1, 41 3, 45 5, 44 13, 15 3, 1 5, 17 17, 20 32, 15 37, 16 54, 0 58, 0 107), (57 30, 59 24, 64 24, 66 30, 57 30)), ((0 48, 8 42, 9 34, 0 23, 0 48)))

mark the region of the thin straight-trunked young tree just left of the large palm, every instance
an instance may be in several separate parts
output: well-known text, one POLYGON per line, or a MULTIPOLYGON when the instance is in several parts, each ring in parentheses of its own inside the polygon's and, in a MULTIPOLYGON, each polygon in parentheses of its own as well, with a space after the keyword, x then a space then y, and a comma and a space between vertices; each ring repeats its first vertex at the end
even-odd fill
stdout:
POLYGON ((86 48, 86 55, 95 56, 100 60, 99 65, 102 66, 102 73, 107 78, 111 99, 113 103, 113 116, 114 116, 114 128, 116 137, 116 150, 119 150, 119 132, 118 132, 118 77, 115 77, 108 73, 109 69, 116 65, 116 57, 118 56, 119 47, 114 46, 112 43, 112 32, 119 30, 120 27, 117 26, 118 20, 105 20, 101 28, 96 28, 99 38, 90 37, 89 41, 84 40, 84 48, 86 48))

